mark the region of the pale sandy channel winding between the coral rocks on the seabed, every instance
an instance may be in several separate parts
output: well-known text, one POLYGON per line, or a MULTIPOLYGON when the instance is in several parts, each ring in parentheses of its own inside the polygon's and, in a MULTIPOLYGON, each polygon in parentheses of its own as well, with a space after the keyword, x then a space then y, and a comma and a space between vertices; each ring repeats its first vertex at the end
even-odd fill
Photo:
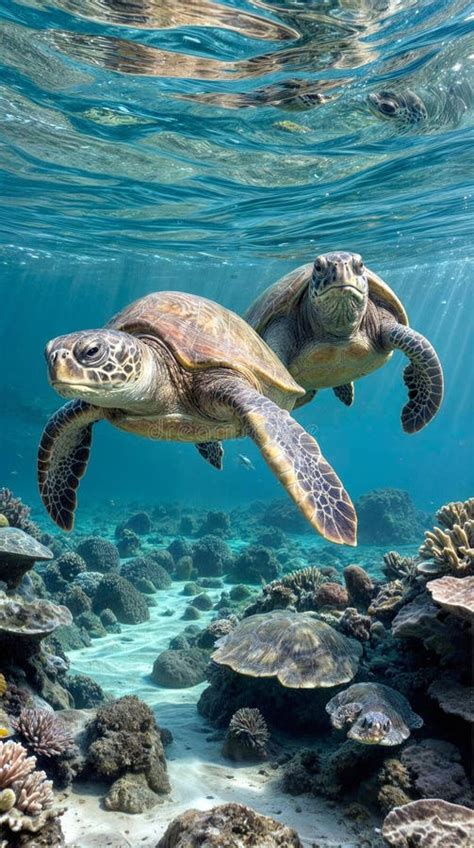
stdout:
MULTIPOLYGON (((248 804, 266 815, 294 827, 305 846, 327 848, 359 845, 359 840, 343 820, 340 811, 319 798, 293 798, 281 792, 281 769, 267 763, 236 766, 220 753, 219 734, 196 710, 207 684, 192 689, 164 689, 148 677, 156 656, 169 640, 189 622, 181 618, 189 598, 180 594, 184 584, 158 592, 158 606, 150 610, 151 620, 123 632, 95 640, 90 648, 71 653, 71 673, 89 674, 107 692, 119 697, 135 694, 155 711, 158 723, 168 727, 174 742, 167 748, 172 792, 162 804, 148 813, 126 815, 103 809, 101 796, 107 791, 97 784, 75 784, 67 795, 63 830, 70 848, 154 848, 168 823, 190 807, 206 809, 236 801, 248 804), (166 609, 173 616, 163 617, 166 609), (259 772, 262 772, 259 774, 259 772)), ((206 590, 217 599, 221 590, 206 590)), ((214 615, 204 613, 204 626, 214 615)))

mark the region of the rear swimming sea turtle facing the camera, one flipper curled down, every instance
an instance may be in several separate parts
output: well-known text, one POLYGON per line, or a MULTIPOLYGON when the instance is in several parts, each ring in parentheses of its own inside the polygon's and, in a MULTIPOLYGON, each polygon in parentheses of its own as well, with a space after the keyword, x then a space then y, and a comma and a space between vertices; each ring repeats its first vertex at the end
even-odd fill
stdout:
POLYGON ((440 407, 443 373, 435 350, 408 326, 396 295, 357 253, 325 253, 300 266, 266 289, 244 317, 306 390, 296 406, 329 387, 350 406, 352 381, 398 348, 410 360, 403 429, 421 430, 440 407))

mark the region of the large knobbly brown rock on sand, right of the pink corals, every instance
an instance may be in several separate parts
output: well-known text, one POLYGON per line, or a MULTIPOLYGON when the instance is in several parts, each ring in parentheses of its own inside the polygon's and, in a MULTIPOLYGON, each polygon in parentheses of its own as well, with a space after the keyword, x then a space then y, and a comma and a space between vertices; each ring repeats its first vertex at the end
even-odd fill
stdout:
POLYGON ((143 701, 134 695, 110 701, 98 708, 88 731, 88 763, 97 775, 114 781, 142 772, 153 792, 169 792, 159 728, 143 701))

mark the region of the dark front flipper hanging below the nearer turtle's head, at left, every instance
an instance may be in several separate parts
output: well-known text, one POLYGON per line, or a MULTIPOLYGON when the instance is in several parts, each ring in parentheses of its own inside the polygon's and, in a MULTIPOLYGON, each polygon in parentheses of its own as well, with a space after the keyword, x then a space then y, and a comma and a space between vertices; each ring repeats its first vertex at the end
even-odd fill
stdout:
POLYGON ((83 400, 72 400, 51 416, 38 448, 41 499, 58 527, 72 530, 76 490, 84 475, 92 443, 92 425, 102 410, 83 400))

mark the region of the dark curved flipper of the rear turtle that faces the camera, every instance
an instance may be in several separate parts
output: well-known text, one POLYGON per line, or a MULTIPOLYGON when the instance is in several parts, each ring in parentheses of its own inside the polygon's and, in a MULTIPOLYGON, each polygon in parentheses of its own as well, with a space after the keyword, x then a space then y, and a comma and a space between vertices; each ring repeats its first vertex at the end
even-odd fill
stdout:
POLYGON ((429 424, 443 400, 443 371, 435 349, 420 333, 402 324, 389 324, 382 329, 386 347, 398 348, 410 360, 403 372, 408 389, 408 403, 402 409, 402 427, 406 433, 417 433, 429 424))

